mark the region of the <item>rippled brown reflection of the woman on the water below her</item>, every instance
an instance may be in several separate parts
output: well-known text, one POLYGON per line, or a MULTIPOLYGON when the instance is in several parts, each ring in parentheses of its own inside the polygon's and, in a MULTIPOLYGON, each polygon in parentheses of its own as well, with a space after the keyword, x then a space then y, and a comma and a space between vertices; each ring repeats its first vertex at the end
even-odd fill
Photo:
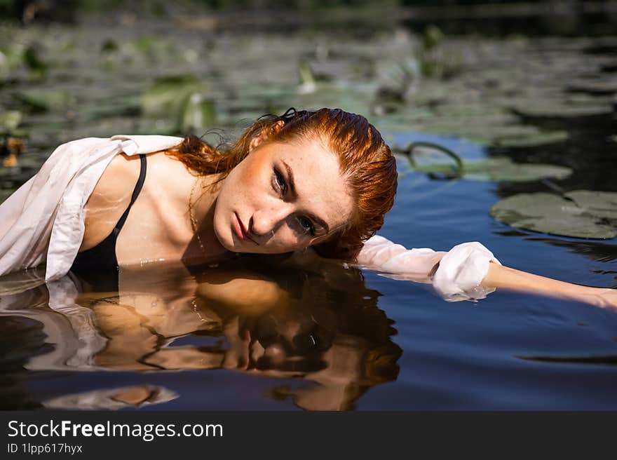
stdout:
MULTIPOLYGON (((336 264, 299 270, 292 259, 244 262, 205 269, 182 283, 181 266, 133 273, 121 295, 62 297, 61 315, 21 308, 24 302, 58 304, 57 293, 39 286, 3 297, 1 314, 43 324, 53 347, 32 353, 29 370, 227 369, 301 379, 313 384, 278 386, 271 394, 308 410, 352 409, 367 389, 396 379, 401 350, 391 341, 395 330, 360 271, 336 264), (203 337, 208 346, 169 346, 187 336, 203 337)), ((45 405, 140 407, 172 395, 153 391, 147 385, 101 388, 45 405)))

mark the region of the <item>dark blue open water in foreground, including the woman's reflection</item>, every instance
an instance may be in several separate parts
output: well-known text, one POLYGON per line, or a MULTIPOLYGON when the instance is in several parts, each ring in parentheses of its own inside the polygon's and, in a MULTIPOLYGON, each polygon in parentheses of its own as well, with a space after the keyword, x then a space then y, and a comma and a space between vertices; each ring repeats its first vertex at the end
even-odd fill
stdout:
MULTIPOLYGON (((614 241, 513 231, 487 214, 497 195, 495 182, 408 173, 381 234, 436 250, 481 241, 517 269, 617 284, 614 241)), ((278 259, 123 271, 119 298, 71 295, 74 283, 52 300, 44 286, 1 297, 4 408, 617 408, 617 313, 586 304, 499 291, 447 303, 428 285, 278 259)))

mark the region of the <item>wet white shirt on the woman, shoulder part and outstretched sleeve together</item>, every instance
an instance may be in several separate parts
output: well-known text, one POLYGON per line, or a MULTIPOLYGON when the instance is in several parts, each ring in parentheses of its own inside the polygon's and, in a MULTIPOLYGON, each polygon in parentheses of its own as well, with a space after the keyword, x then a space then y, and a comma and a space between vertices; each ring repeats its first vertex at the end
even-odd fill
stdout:
MULTIPOLYGON (((115 135, 88 137, 57 147, 41 170, 0 204, 0 275, 46 262, 45 280, 59 280, 71 269, 84 233, 86 202, 114 156, 169 149, 181 137, 115 135)), ((443 255, 428 248, 407 250, 373 236, 358 264, 403 279, 431 282, 446 300, 481 299, 489 262, 499 261, 477 242, 443 255), (441 258, 441 260, 440 260, 441 258), (429 273, 440 262, 433 276, 429 273)))

